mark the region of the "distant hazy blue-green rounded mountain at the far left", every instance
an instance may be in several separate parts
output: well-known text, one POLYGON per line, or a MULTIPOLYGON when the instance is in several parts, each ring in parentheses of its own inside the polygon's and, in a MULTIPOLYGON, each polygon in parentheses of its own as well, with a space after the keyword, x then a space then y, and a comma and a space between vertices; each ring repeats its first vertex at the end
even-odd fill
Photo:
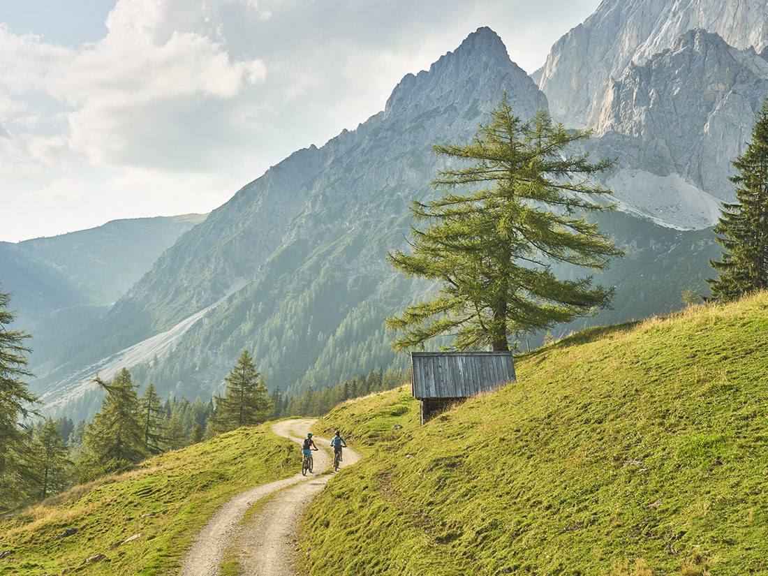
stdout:
POLYGON ((0 243, 0 283, 12 293, 16 326, 30 333, 30 366, 97 323, 163 250, 204 214, 113 220, 100 227, 0 243))

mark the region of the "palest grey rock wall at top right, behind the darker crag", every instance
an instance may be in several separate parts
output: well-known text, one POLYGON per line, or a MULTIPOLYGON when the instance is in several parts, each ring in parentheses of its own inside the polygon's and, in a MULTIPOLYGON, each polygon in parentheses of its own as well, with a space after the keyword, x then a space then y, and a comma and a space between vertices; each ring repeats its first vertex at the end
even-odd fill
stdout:
POLYGON ((630 62, 643 65, 695 28, 760 53, 768 46, 768 7, 765 0, 604 0, 555 43, 534 78, 554 117, 594 125, 611 76, 630 62))

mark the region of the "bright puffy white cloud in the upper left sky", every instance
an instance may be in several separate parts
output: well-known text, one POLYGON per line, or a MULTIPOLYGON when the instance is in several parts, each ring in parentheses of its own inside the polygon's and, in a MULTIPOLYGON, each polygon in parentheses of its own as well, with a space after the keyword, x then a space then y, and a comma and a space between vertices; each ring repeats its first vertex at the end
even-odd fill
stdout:
MULTIPOLYGON (((0 50, 12 64, 0 71, 0 94, 42 92, 68 107, 69 134, 57 136, 67 137, 71 150, 85 161, 163 166, 170 158, 168 167, 178 170, 181 166, 174 154, 166 154, 167 146, 174 137, 185 144, 194 140, 195 118, 171 115, 188 121, 187 126, 173 126, 158 111, 205 114, 207 100, 230 100, 235 107, 238 94, 266 78, 258 58, 233 60, 219 40, 177 29, 177 20, 187 26, 204 22, 201 10, 190 14, 185 5, 179 10, 164 0, 120 0, 108 17, 108 35, 77 49, 0 28, 0 50)), ((220 134, 226 139, 227 127, 220 134)), ((207 161, 204 144, 187 144, 185 149, 186 164, 207 161)), ((42 158, 35 155, 39 150, 30 152, 34 159, 42 158)))

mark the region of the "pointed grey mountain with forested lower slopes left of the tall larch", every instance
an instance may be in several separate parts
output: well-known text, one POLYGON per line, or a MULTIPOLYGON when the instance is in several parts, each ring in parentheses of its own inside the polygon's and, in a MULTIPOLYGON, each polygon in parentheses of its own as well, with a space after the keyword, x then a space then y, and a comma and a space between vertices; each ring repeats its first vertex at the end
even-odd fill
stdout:
MULTIPOLYGON (((152 362, 156 368, 147 378, 161 379, 165 370, 155 382, 163 391, 177 382, 210 390, 237 350, 248 346, 258 348, 260 368, 274 376, 270 386, 295 384, 347 320, 365 317, 380 328, 392 304, 382 308, 379 300, 402 303, 403 294, 412 293, 400 280, 390 288, 395 274, 384 255, 405 243, 409 201, 429 194, 439 167, 432 144, 467 140, 504 91, 523 117, 546 108, 498 35, 481 28, 429 71, 403 78, 386 109, 356 131, 296 152, 214 210, 157 260, 100 326, 63 350, 62 362, 71 362, 39 386, 55 393, 72 368, 164 331, 243 284, 190 327, 174 363, 152 362)), ((377 351, 386 349, 382 335, 379 340, 377 351)), ((353 374, 365 364, 356 362, 353 374)), ((334 369, 318 377, 333 382, 338 374, 334 369)))

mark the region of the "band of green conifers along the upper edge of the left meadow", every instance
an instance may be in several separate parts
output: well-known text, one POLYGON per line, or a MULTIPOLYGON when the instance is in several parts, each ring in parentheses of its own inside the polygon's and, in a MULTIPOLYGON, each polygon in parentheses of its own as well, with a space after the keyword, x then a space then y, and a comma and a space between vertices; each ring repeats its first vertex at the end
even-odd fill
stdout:
POLYGON ((287 416, 319 416, 346 399, 400 386, 406 376, 372 370, 337 386, 311 387, 301 396, 269 392, 253 357, 243 350, 223 379, 224 393, 204 401, 162 399, 151 382, 141 386, 123 368, 112 379, 94 377, 104 391, 101 410, 74 424, 67 416, 41 418, 29 392, 24 345, 11 330, 10 295, 0 292, 0 510, 35 502, 72 485, 124 472, 152 455, 287 416))

